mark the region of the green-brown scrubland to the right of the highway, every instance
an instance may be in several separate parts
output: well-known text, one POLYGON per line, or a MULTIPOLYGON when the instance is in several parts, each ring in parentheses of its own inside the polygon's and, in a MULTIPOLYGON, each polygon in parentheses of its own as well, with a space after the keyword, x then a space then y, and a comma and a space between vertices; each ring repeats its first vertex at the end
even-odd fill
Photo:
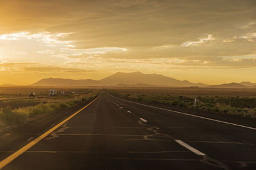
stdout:
MULTIPOLYGON (((212 92, 212 89, 202 89, 201 92, 198 92, 200 95, 196 95, 195 89, 190 90, 189 88, 179 89, 178 92, 177 89, 173 89, 172 92, 172 89, 109 89, 109 92, 134 101, 256 118, 256 96, 252 96, 252 92, 248 92, 247 95, 243 92, 241 96, 227 96, 229 89, 221 89, 219 93, 212 92)), ((243 91, 243 89, 236 90, 243 91)))

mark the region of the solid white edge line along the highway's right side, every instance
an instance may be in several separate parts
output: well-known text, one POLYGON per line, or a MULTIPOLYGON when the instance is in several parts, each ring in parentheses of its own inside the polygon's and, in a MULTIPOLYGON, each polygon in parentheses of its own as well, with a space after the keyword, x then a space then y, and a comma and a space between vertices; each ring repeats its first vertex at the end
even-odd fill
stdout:
MULTIPOLYGON (((115 96, 114 96, 115 97, 115 96)), ((118 98, 118 97, 116 97, 118 98)), ((120 98, 118 98, 120 99, 120 98)), ((124 99, 121 99, 123 101, 127 101, 127 100, 124 100, 124 99)), ((133 102, 133 101, 128 101, 130 103, 136 103, 136 102, 133 102)), ((244 127, 244 128, 247 128, 247 129, 252 129, 254 131, 256 131, 256 128, 254 127, 248 127, 248 126, 245 126, 245 125, 239 125, 239 124, 232 124, 230 122, 224 122, 224 121, 221 121, 221 120, 216 120, 216 119, 213 119, 213 118, 207 118, 207 117, 200 117, 200 116, 196 116, 196 115, 191 115, 189 113, 183 113, 183 112, 180 112, 180 111, 174 111, 174 110, 167 110, 167 109, 164 109, 164 108, 158 108, 156 106, 150 106, 150 105, 147 105, 147 104, 141 104, 141 103, 136 103, 136 104, 140 104, 140 105, 143 105, 143 106, 148 106, 148 107, 151 107, 151 108, 157 108, 159 110, 165 110, 165 111, 172 111, 172 112, 175 112, 175 113, 179 113, 179 114, 182 114, 182 115, 188 115, 188 116, 191 116, 191 117, 197 117, 197 118, 203 118, 205 120, 211 120, 211 121, 214 121, 214 122, 220 122, 220 123, 223 123, 223 124, 229 124, 229 125, 235 125, 235 126, 238 126, 238 127, 244 127)))

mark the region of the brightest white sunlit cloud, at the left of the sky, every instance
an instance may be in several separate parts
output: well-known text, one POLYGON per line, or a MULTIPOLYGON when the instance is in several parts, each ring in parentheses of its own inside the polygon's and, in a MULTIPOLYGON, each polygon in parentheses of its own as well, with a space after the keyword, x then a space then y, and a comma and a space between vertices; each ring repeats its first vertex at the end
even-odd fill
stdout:
POLYGON ((8 56, 9 59, 19 59, 19 55, 26 55, 24 57, 26 61, 33 59, 44 64, 49 61, 61 64, 65 60, 79 58, 83 55, 88 57, 128 51, 127 48, 116 46, 76 48, 74 40, 66 40, 71 34, 71 32, 15 32, 1 34, 0 43, 1 41, 10 41, 10 44, 4 45, 3 48, 4 55, 8 56), (20 52, 21 50, 22 52, 20 52))

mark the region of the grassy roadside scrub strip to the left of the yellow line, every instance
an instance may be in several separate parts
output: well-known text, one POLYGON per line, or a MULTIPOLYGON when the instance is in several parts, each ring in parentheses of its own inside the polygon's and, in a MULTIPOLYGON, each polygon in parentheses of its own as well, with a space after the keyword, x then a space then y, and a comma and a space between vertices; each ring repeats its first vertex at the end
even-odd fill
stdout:
POLYGON ((76 94, 2 99, 0 101, 0 131, 6 127, 33 122, 60 110, 86 103, 95 98, 98 93, 98 89, 80 89, 76 90, 76 94), (80 99, 81 94, 82 99, 80 99))

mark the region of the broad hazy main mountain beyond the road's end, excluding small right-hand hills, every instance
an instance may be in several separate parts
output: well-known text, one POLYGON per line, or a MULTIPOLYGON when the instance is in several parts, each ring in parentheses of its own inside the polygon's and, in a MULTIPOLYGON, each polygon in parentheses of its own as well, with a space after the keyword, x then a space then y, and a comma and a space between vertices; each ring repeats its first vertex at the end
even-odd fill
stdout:
POLYGON ((118 84, 125 85, 147 85, 157 87, 205 87, 203 83, 191 83, 187 80, 181 81, 161 74, 143 74, 141 72, 133 73, 115 73, 111 76, 103 78, 102 80, 72 80, 63 78, 45 78, 37 81, 33 86, 70 86, 70 87, 84 87, 84 86, 115 86, 118 84))

